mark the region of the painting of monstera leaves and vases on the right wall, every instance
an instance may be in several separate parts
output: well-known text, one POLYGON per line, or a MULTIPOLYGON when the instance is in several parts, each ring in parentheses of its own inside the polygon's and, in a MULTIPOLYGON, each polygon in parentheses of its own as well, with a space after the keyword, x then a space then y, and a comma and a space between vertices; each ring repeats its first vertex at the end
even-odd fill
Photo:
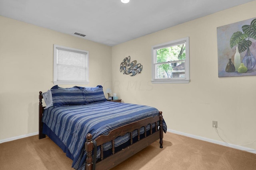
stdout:
POLYGON ((217 41, 219 77, 256 75, 256 18, 217 27, 217 41), (237 48, 246 72, 227 71, 228 64, 234 63, 237 48))

